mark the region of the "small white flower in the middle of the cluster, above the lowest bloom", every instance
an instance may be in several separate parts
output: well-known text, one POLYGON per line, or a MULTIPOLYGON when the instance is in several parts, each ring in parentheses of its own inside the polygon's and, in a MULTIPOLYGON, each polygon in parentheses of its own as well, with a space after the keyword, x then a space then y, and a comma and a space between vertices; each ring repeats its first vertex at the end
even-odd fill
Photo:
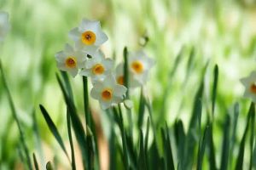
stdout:
POLYGON ((113 60, 106 59, 102 51, 98 51, 86 61, 84 69, 79 74, 91 77, 92 80, 102 80, 111 73, 112 68, 113 60))

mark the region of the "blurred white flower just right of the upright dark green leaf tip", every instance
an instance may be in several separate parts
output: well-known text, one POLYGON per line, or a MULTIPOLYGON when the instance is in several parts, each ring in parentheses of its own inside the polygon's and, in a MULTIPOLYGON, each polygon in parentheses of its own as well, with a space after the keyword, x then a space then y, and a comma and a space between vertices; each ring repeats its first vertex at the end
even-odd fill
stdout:
POLYGON ((154 60, 148 58, 143 51, 129 55, 129 69, 141 85, 145 84, 148 80, 148 71, 154 65, 154 60))

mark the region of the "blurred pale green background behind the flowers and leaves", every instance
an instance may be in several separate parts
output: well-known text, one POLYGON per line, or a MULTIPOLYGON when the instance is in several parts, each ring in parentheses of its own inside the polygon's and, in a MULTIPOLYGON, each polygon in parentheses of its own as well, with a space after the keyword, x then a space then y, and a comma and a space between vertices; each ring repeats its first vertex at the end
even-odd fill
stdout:
MULTIPOLYGON (((55 79, 58 71, 55 53, 66 42, 73 42, 67 32, 79 26, 83 18, 100 20, 108 35, 102 50, 116 64, 123 58, 123 48, 142 48, 143 37, 149 38, 144 50, 155 60, 145 94, 153 103, 154 116, 172 124, 181 118, 188 122, 199 86, 201 72, 209 61, 206 76, 204 111, 209 110, 213 66, 218 64, 217 123, 235 102, 241 104, 241 122, 245 122, 249 101, 242 99, 241 77, 255 69, 256 3, 254 0, 1 0, 0 10, 9 13, 11 30, 0 45, 0 59, 25 131, 30 152, 44 155, 42 162, 56 159, 67 165, 67 158, 49 132, 38 110, 43 104, 66 141, 67 126, 61 90, 55 79), (180 62, 177 54, 183 48, 180 62), (189 58, 191 51, 193 57, 189 58), (177 70, 170 80, 170 71, 177 70), (166 94, 168 91, 168 95, 166 94), (163 96, 166 105, 163 111, 163 96), (33 113, 40 138, 35 136, 33 113), (42 139, 42 140, 40 140, 42 139), (38 149, 38 145, 43 149, 38 149), (65 162, 66 161, 66 162, 65 162)), ((83 116, 82 78, 71 79, 78 110, 83 116)), ((139 89, 131 97, 137 108, 139 89)), ((108 122, 94 99, 105 134, 108 122)), ((3 83, 0 83, 0 169, 22 169, 19 155, 19 132, 11 115, 3 83)), ((134 116, 136 117, 136 116, 134 116)), ((186 123, 185 123, 186 126, 186 123)), ((241 123, 243 130, 245 125, 241 123)), ((107 130, 106 130, 107 129, 107 130)), ((218 132, 218 129, 217 129, 218 132)), ((238 138, 241 138, 238 137, 238 138)), ((216 134, 216 147, 220 145, 216 134)), ((218 153, 219 154, 219 153, 218 153)))

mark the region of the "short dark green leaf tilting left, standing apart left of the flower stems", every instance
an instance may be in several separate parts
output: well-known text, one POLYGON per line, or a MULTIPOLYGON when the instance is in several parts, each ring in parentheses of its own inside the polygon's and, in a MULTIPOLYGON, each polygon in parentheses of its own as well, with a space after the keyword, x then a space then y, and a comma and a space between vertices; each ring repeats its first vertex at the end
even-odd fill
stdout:
POLYGON ((59 133, 57 127, 55 126, 55 123, 51 120, 51 118, 50 118, 48 112, 45 110, 44 106, 43 106, 43 105, 39 105, 39 107, 40 107, 40 110, 41 110, 41 112, 42 112, 42 114, 43 114, 43 116, 44 116, 45 122, 47 122, 47 125, 48 125, 48 127, 49 127, 50 132, 55 136, 55 139, 56 139, 57 142, 60 144, 61 149, 62 149, 62 150, 64 151, 64 153, 66 154, 67 159, 70 161, 69 156, 68 156, 68 154, 67 154, 67 150, 66 150, 66 148, 65 148, 65 145, 64 145, 64 143, 63 143, 63 140, 61 139, 61 135, 60 135, 60 133, 59 133))

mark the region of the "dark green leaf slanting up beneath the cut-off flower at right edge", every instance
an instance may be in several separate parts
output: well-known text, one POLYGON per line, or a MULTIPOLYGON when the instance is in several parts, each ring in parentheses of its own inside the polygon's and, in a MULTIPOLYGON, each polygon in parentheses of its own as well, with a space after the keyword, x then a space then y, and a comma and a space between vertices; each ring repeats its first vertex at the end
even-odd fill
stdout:
POLYGON ((244 150, 245 150, 245 142, 246 142, 246 138, 247 138, 247 131, 249 128, 250 117, 251 117, 251 115, 253 116, 254 114, 255 114, 255 106, 254 106, 254 103, 252 102, 250 109, 248 111, 247 125, 246 125, 244 133, 242 135, 239 153, 238 153, 238 157, 236 159, 236 170, 242 169, 242 166, 243 166, 243 157, 244 157, 244 150))

